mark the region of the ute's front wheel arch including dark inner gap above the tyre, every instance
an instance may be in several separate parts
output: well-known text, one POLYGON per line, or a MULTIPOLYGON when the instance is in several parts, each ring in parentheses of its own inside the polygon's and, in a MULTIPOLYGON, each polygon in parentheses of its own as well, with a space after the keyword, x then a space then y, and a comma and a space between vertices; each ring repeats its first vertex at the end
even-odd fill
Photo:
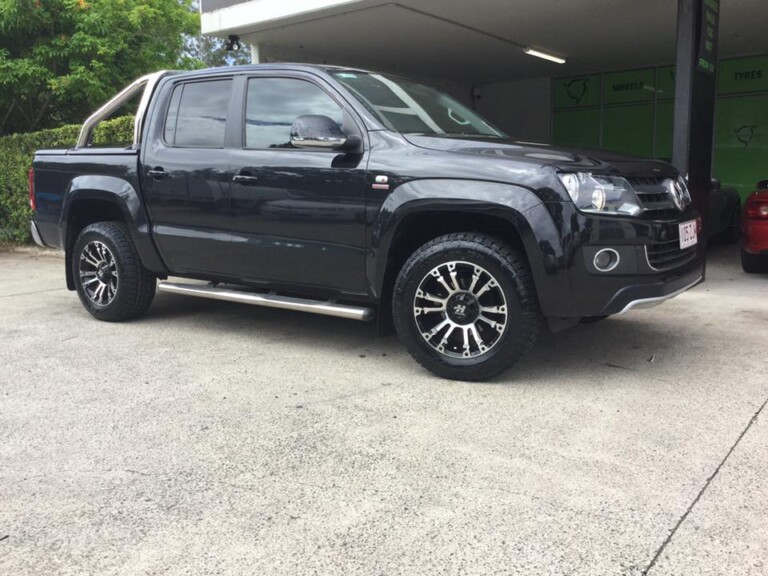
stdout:
POLYGON ((563 247, 549 208, 531 190, 496 182, 426 180, 400 186, 373 226, 366 273, 388 331, 392 288, 419 246, 454 232, 478 232, 517 248, 531 269, 542 312, 568 283, 563 247))

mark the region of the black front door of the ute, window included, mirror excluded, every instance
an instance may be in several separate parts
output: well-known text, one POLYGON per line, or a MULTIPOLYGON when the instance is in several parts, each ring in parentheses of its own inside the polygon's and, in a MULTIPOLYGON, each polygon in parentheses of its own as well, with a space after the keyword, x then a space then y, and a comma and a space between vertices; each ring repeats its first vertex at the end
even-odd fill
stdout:
POLYGON ((232 152, 233 257, 241 277, 366 290, 365 153, 299 149, 293 121, 319 114, 363 137, 353 112, 312 75, 245 80, 242 147, 232 152))

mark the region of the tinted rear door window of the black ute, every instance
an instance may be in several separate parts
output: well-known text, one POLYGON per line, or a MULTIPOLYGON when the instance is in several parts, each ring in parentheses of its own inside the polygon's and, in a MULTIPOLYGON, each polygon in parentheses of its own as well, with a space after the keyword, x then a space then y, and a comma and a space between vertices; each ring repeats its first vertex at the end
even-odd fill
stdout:
POLYGON ((174 88, 165 118, 165 142, 187 148, 223 148, 232 80, 190 82, 174 88))

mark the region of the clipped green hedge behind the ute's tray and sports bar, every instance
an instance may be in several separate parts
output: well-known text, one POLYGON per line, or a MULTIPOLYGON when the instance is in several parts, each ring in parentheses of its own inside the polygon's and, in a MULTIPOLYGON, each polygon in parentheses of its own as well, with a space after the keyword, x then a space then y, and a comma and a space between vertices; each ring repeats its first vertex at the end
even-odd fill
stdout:
MULTIPOLYGON (((0 137, 0 242, 25 243, 29 235, 29 184, 27 174, 35 150, 69 148, 77 142, 80 126, 69 125, 29 134, 0 137)), ((94 144, 133 141, 133 117, 102 122, 93 135, 94 144)))

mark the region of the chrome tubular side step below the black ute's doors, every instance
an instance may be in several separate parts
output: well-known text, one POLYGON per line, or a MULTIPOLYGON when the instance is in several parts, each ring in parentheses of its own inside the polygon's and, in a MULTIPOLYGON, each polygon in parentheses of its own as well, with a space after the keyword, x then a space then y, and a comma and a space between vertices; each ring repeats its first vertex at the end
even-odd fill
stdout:
POLYGON ((218 286, 209 284, 158 282, 157 289, 161 292, 170 292, 171 294, 197 296, 199 298, 224 300, 226 302, 239 302, 241 304, 264 306, 266 308, 297 310, 299 312, 310 312, 312 314, 321 314, 323 316, 346 318, 347 320, 368 321, 373 320, 374 316, 372 308, 346 306, 344 304, 336 304, 335 302, 326 302, 323 300, 305 300, 303 298, 292 298, 290 296, 278 296, 277 294, 245 292, 241 290, 219 288, 218 286))

